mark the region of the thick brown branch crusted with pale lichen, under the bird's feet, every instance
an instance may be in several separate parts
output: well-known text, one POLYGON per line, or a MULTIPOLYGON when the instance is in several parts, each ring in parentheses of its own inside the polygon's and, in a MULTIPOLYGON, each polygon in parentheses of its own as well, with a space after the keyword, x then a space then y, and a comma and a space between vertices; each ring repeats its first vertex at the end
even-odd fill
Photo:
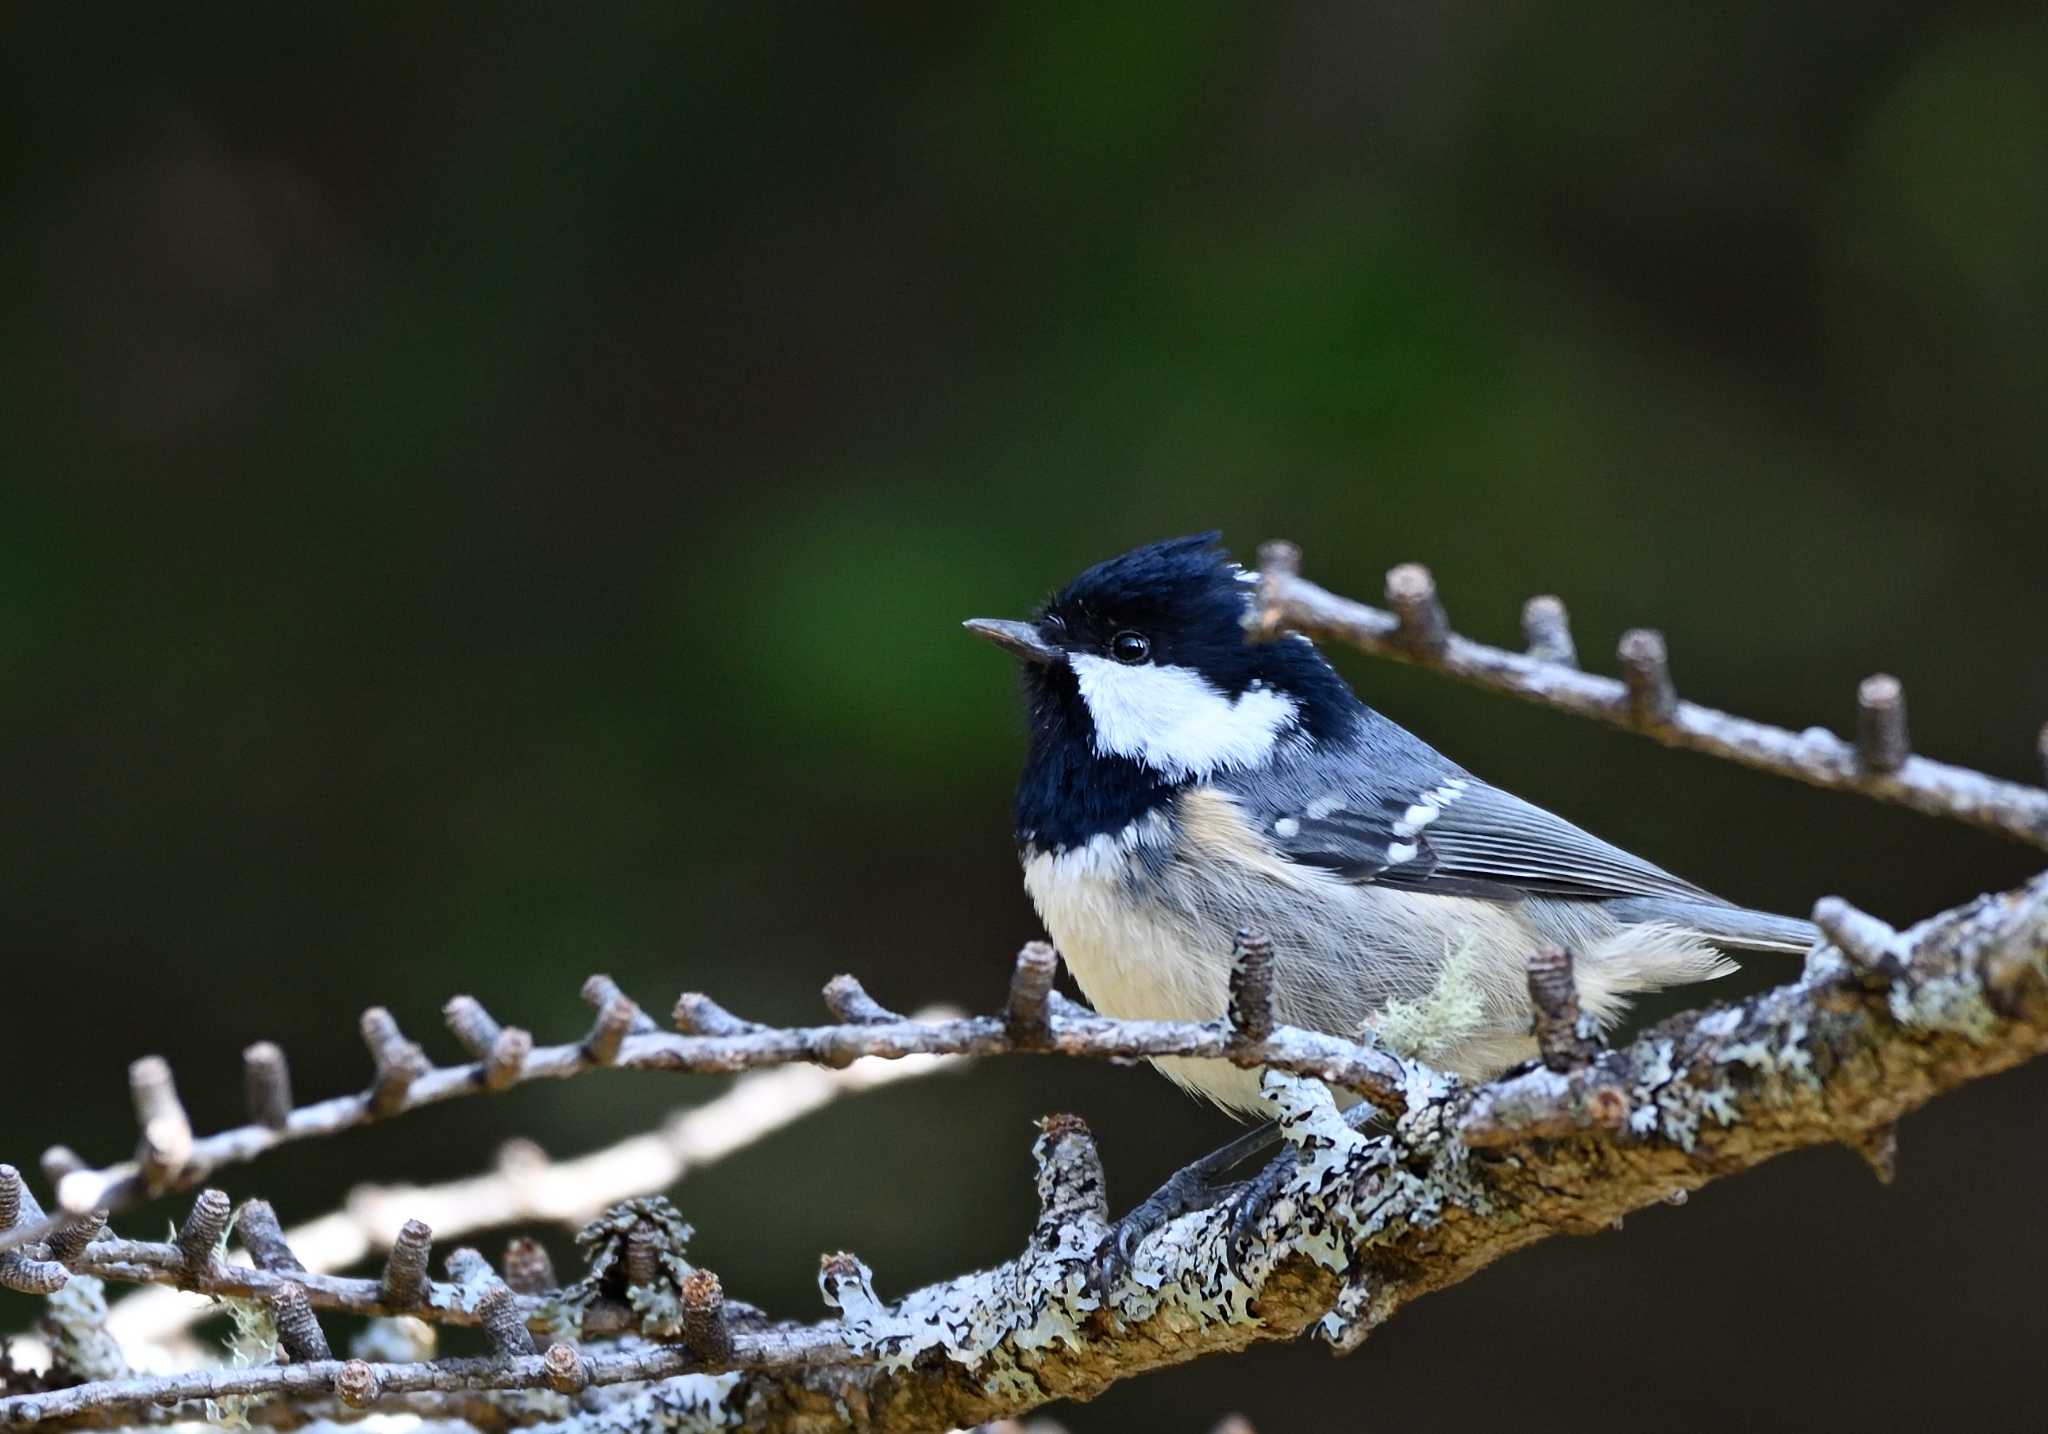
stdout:
MULTIPOLYGON (((16 1395, 0 1399, 0 1424, 170 1399, 330 1397, 344 1375, 379 1395, 575 1395, 688 1375, 649 1383, 635 1395, 647 1407, 606 1405, 606 1418, 655 1418, 651 1401, 688 1399, 684 1428, 944 1430, 1257 1340, 1313 1330, 1352 1348, 1409 1301, 1528 1243, 1604 1229, 1806 1145, 1868 1147, 1933 1096, 2048 1053, 2048 875, 1905 932, 1835 901, 1817 918, 1829 940, 1798 981, 1677 1016, 1626 1047, 1556 1043, 1550 1065, 1479 1088, 1405 1065, 1403 1108, 1380 1133, 1362 1129, 1364 1106, 1341 1114, 1327 1086, 1270 1071, 1288 1141, 1280 1178, 1262 1182, 1247 1211, 1167 1223, 1106 1291, 1092 1282, 1108 1229, 1102 1166, 1085 1127, 1055 1116, 1036 1147, 1040 1217, 1018 1260, 885 1301, 858 1260, 827 1256, 819 1282, 838 1319, 727 1325, 715 1358, 684 1338, 653 1352, 561 1344, 494 1360, 309 1360, 16 1395)), ((1257 963, 1241 953, 1241 965, 1257 963)), ((1538 979, 1563 1010, 1556 969, 1538 979)), ((631 1266, 633 1248, 614 1246, 623 1254, 610 1260, 631 1266)), ((90 1252, 106 1264, 137 1256, 129 1241, 90 1252)), ((176 1243, 147 1254, 174 1258, 184 1260, 176 1243)), ((250 1274, 225 1278, 256 1287, 250 1274)), ((702 1330, 705 1317, 678 1309, 676 1327, 702 1330)), ((610 1426, 580 1424, 571 1409, 559 1428, 610 1426)))

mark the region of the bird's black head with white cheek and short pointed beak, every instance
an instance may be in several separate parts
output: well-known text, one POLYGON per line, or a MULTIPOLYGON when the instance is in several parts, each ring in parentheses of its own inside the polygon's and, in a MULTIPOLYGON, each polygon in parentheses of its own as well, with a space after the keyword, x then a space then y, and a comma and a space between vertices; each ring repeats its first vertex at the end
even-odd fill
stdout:
POLYGON ((1247 637, 1257 576, 1217 539, 1096 563, 1026 623, 967 623, 1024 660, 1032 762, 1057 768, 1069 791, 1124 768, 1151 787, 1257 768, 1286 742, 1356 721, 1358 699, 1313 645, 1247 637))

